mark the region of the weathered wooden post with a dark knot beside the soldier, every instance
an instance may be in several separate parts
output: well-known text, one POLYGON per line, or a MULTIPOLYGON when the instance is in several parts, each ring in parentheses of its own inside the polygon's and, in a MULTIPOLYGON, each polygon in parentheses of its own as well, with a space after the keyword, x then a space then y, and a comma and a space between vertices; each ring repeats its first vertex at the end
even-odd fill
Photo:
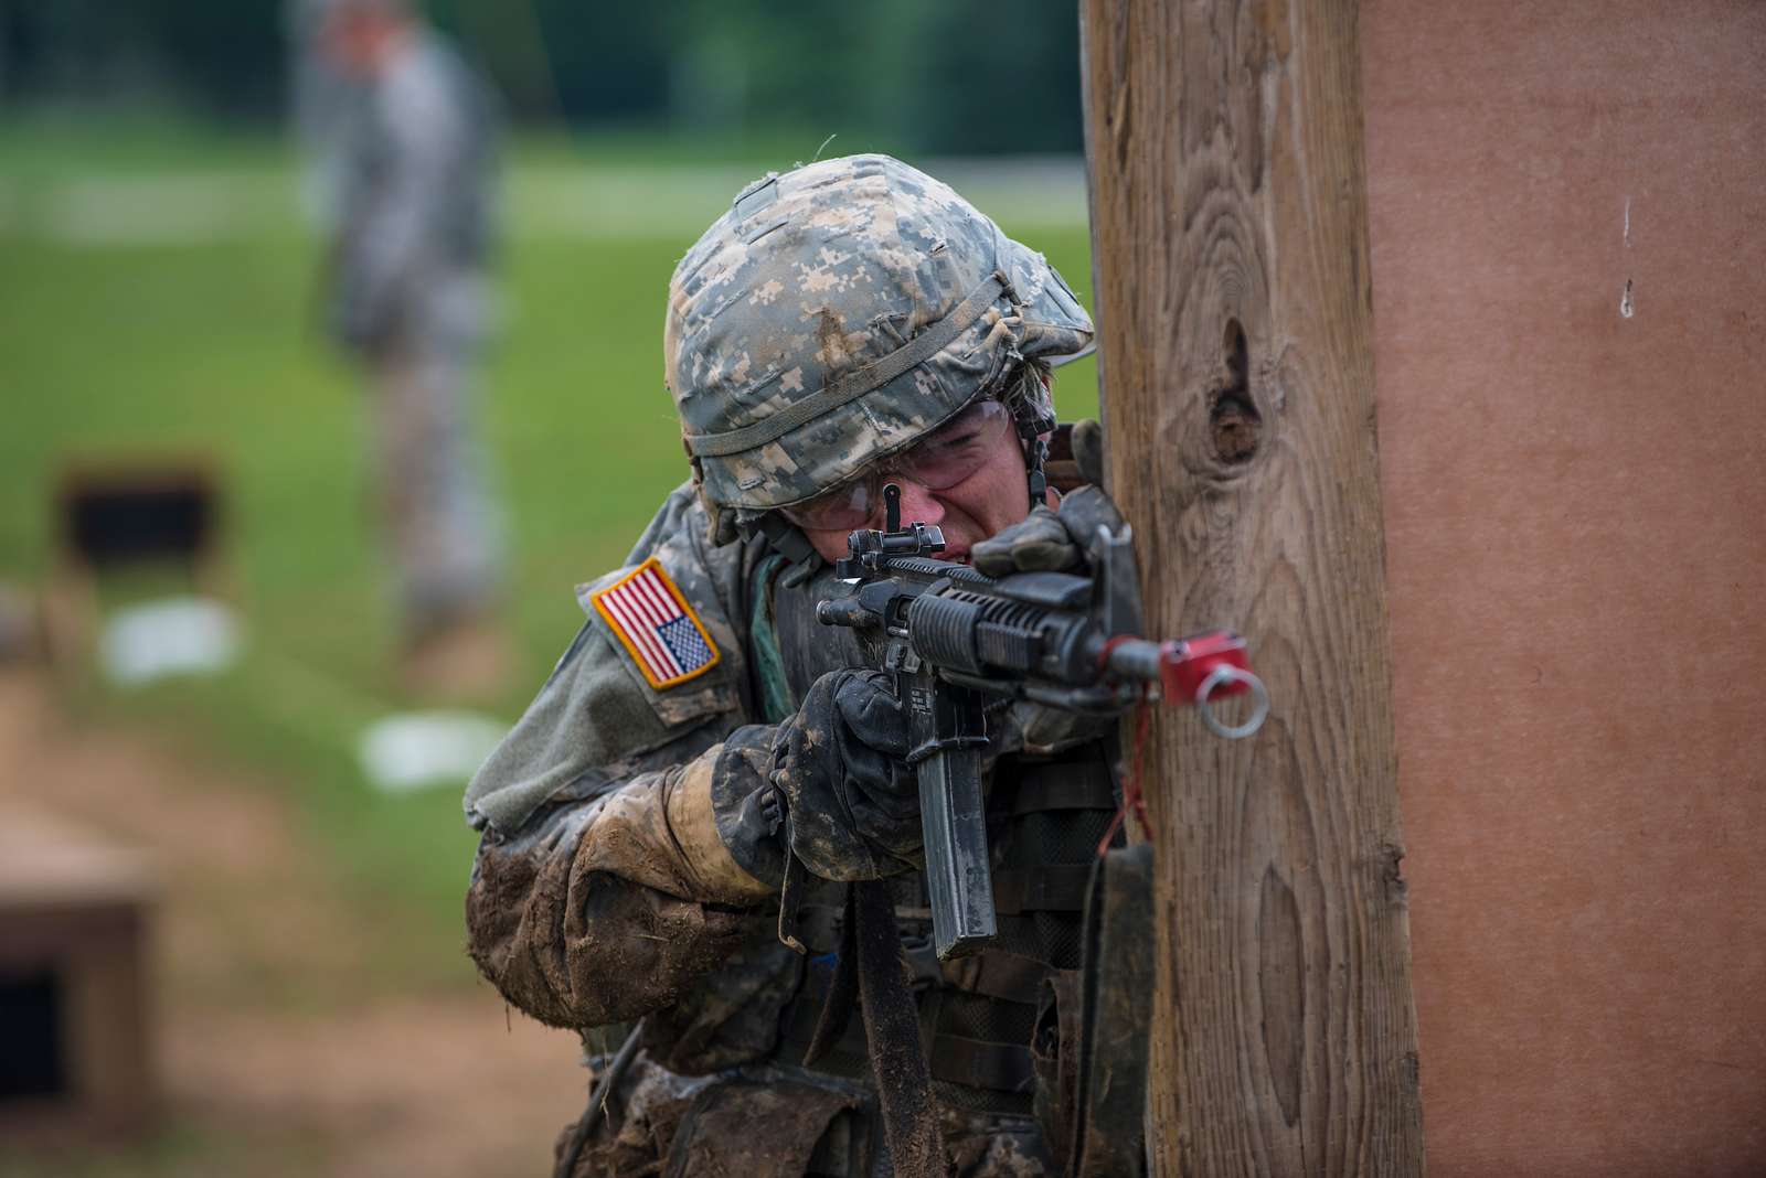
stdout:
POLYGON ((1109 488, 1150 633, 1234 626, 1250 741, 1160 711, 1157 1174, 1420 1174, 1355 0, 1084 0, 1109 488))

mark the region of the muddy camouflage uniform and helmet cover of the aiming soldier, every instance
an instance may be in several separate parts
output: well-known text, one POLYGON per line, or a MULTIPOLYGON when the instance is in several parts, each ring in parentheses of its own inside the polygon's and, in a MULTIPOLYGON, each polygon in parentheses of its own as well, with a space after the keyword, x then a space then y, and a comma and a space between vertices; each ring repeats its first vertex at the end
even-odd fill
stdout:
MULTIPOLYGON (((784 852, 756 838, 752 808, 811 684, 862 656, 849 631, 814 621, 832 573, 782 575, 777 536, 758 524, 1090 330, 1040 256, 885 157, 752 185, 682 261, 669 386, 689 437, 726 443, 692 443, 694 481, 622 570, 577 591, 588 624, 466 794, 482 831, 466 899, 480 970, 540 1021, 585 1030, 595 1067, 645 1018, 643 1053, 577 1174, 888 1173, 858 1021, 802 1065, 842 947, 844 885, 814 882, 800 912, 811 952, 784 947, 784 852), (915 340, 936 346, 897 372, 915 340), (871 388, 851 391, 853 374, 871 388), (816 390, 834 390, 821 413, 781 430, 816 390), (719 652, 662 688, 595 608, 652 559, 719 652)), ((1058 1044, 1074 1016, 1058 998, 1079 958, 1077 882, 1114 797, 1095 734, 1045 721, 1014 709, 991 728, 998 951, 941 966, 922 878, 892 880, 959 1174, 1058 1173, 1070 1086, 1058 1044)))

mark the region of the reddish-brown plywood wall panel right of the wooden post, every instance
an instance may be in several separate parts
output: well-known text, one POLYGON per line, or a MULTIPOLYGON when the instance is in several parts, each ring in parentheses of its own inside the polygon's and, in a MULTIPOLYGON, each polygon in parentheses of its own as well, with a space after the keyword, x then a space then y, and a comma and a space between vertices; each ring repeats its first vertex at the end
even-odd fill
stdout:
POLYGON ((1766 4, 1362 39, 1430 1173, 1766 1173, 1766 4))

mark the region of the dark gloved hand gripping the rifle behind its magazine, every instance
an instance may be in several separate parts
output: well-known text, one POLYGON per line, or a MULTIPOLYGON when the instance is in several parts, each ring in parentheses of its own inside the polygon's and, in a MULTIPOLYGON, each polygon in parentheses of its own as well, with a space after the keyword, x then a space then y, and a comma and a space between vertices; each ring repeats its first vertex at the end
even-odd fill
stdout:
POLYGON ((920 790, 908 718, 876 670, 834 670, 779 727, 772 781, 791 850, 826 880, 878 880, 920 859, 920 790))

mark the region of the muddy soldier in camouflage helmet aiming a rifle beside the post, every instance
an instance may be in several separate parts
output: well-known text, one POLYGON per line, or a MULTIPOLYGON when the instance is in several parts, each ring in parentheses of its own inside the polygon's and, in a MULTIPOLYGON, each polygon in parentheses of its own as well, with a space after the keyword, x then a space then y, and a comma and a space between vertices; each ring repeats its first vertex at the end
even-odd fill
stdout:
POLYGON ((1118 806, 1102 734, 998 718, 1000 942, 941 965, 902 712, 814 607, 848 531, 881 527, 885 481, 945 557, 1079 564, 1074 538, 1118 522, 1107 497, 1031 511, 1028 488, 1049 365, 1090 340, 1040 254, 881 155, 766 176, 675 270, 664 367, 692 478, 579 589, 588 623, 466 792, 472 956, 533 1018, 585 1030, 606 1092, 558 1173, 1060 1173, 1060 996, 1118 806), (814 875, 807 958, 777 933, 789 855, 814 875), (917 1123, 883 1123, 902 1081, 879 1099, 878 1044, 841 1005, 855 880, 888 880, 913 966, 917 1123))

